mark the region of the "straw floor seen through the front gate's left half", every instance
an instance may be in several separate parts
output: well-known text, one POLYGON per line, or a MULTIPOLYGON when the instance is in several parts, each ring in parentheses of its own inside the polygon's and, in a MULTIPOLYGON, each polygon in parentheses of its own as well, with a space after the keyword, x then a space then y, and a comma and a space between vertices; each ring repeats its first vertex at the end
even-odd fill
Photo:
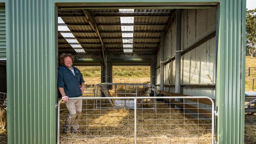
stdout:
POLYGON ((78 133, 65 133, 67 108, 60 104, 60 140, 61 143, 84 144, 133 144, 134 111, 123 108, 94 108, 94 100, 83 100, 82 117, 79 120, 78 133))

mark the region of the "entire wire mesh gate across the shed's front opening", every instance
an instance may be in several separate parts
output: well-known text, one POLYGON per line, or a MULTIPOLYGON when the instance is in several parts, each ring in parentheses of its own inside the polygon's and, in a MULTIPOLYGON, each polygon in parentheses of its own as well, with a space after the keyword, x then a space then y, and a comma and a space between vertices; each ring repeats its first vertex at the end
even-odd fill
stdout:
POLYGON ((58 142, 60 143, 213 144, 214 104, 208 97, 88 97, 80 99, 83 99, 82 118, 79 120, 80 131, 76 133, 72 131, 64 133, 63 126, 67 109, 65 103, 61 101, 59 103, 58 142), (176 102, 175 98, 180 98, 184 102, 185 99, 193 99, 193 101, 176 102), (134 100, 134 109, 121 107, 97 107, 96 109, 95 107, 94 100, 100 102, 115 99, 134 100), (210 101, 212 107, 199 107, 202 99, 210 101), (141 101, 148 101, 148 103, 141 104, 141 101), (193 106, 189 106, 190 104, 193 106), (155 109, 146 109, 150 105, 155 105, 155 109), (176 108, 175 105, 179 105, 180 108, 176 108))

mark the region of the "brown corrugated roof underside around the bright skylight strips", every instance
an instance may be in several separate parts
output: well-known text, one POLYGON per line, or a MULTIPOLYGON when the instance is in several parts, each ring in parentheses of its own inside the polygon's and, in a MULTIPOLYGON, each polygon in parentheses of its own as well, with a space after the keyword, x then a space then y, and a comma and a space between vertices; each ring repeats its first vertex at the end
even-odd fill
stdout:
MULTIPOLYGON (((85 52, 102 52, 101 41, 95 26, 91 26, 86 15, 93 16, 99 34, 102 37, 107 52, 123 52, 122 33, 132 33, 133 52, 154 52, 160 44, 160 32, 171 17, 171 9, 134 9, 134 11, 119 11, 119 9, 59 9, 58 15, 67 25, 85 52), (120 17, 134 17, 134 22, 121 24, 120 17), (134 24, 133 24, 134 23, 134 24), (121 31, 122 26, 132 26, 133 31, 121 31), (112 39, 111 39, 112 38, 112 39)), ((94 22, 93 22, 94 23, 94 22)), ((94 23, 94 24, 95 24, 94 23)), ((59 52, 74 51, 59 31, 59 52), (71 49, 71 50, 70 50, 71 49)), ((68 33, 65 32, 64 33, 68 33)), ((71 38, 69 38, 71 39, 71 38)))

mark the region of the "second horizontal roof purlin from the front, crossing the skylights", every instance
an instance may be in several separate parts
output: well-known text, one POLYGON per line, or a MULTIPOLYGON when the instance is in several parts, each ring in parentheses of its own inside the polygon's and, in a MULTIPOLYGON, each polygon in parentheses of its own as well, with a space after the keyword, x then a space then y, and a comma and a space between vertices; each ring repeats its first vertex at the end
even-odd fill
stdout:
MULTIPOLYGON (((134 23, 134 24, 120 24, 120 23, 99 23, 98 26, 166 26, 165 23, 134 23)), ((58 26, 91 26, 89 23, 66 23, 58 24, 58 26)))

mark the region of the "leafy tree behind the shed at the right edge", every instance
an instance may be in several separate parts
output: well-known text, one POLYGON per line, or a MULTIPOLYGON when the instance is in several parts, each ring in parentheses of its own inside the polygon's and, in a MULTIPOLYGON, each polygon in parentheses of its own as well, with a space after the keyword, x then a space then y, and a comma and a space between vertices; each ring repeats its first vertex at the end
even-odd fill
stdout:
POLYGON ((246 55, 255 56, 256 52, 256 9, 246 11, 246 55))

